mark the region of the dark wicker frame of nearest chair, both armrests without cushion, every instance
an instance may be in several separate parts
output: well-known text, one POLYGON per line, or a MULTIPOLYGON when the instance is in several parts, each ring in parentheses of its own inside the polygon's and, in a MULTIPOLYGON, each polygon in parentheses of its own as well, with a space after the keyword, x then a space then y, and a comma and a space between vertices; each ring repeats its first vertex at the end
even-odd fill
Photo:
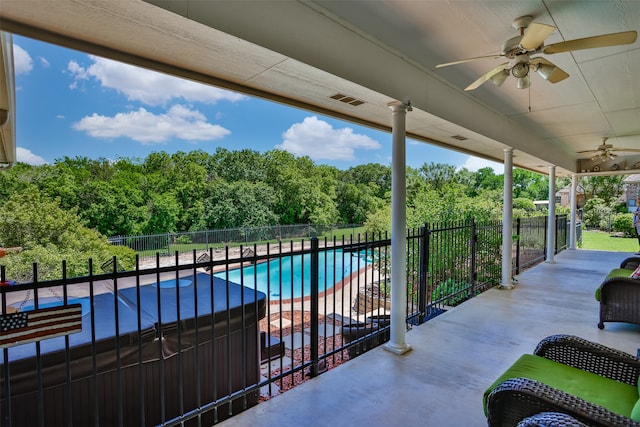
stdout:
MULTIPOLYGON (((640 359, 571 335, 543 339, 534 354, 638 386, 640 359)), ((560 412, 589 426, 640 427, 640 422, 528 378, 502 381, 487 396, 489 426, 516 426, 540 412, 560 412)), ((535 424, 534 424, 535 425, 535 424)))

